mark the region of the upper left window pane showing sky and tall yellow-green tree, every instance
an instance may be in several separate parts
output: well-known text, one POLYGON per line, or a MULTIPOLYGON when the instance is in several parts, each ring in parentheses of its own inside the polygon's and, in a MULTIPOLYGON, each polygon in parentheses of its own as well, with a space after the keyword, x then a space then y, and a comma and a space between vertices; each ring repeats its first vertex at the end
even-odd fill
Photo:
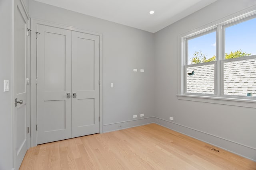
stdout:
POLYGON ((216 31, 188 39, 188 64, 216 60, 216 31))

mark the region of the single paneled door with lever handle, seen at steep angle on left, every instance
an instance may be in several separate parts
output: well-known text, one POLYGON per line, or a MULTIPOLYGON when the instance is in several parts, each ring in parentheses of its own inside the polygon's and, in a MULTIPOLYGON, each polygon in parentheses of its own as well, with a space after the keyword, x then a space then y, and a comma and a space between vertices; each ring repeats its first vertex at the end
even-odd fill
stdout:
MULTIPOLYGON (((28 149, 28 18, 20 4, 14 1, 14 168, 18 169, 28 149)), ((3 146, 4 147, 4 146, 3 146)))

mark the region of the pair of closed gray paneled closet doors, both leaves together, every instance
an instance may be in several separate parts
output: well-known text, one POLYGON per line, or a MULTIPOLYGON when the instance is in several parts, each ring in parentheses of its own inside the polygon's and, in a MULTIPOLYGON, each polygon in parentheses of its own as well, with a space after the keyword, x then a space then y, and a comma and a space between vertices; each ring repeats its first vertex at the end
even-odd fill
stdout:
POLYGON ((100 132, 100 37, 37 25, 37 143, 100 132))

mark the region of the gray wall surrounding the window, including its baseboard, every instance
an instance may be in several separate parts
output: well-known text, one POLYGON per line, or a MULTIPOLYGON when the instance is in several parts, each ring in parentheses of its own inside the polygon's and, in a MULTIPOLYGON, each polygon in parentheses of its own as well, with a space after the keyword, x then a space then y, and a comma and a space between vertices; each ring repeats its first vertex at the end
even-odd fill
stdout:
POLYGON ((180 57, 178 36, 255 4, 255 0, 218 0, 154 34, 155 116, 160 118, 156 118, 156 122, 253 160, 256 160, 255 108, 178 100, 176 94, 180 57), (179 125, 167 122, 169 116, 179 125))

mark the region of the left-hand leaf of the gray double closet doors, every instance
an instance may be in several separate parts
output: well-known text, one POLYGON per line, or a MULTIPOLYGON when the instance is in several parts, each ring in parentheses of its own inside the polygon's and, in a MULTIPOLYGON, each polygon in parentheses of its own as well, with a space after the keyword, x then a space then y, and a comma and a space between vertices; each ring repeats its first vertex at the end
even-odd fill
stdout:
POLYGON ((72 137, 72 31, 37 26, 37 143, 72 137))

